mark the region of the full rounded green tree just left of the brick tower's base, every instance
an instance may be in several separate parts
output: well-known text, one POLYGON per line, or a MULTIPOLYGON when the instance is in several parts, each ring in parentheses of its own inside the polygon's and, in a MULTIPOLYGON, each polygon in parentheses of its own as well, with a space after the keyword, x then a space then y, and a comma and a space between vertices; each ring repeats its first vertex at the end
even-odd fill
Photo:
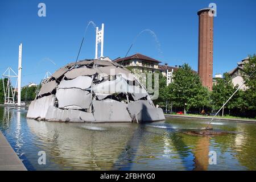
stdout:
POLYGON ((173 82, 168 85, 170 101, 183 107, 184 113, 190 107, 209 105, 208 89, 201 84, 200 77, 188 64, 182 65, 173 75, 173 82))

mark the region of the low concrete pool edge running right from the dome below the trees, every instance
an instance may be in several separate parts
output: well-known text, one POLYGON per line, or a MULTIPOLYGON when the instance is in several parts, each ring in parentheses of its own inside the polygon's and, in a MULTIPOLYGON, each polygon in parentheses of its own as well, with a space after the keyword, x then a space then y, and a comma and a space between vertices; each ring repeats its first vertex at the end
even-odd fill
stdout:
MULTIPOLYGON (((192 115, 176 115, 176 114, 164 114, 165 117, 169 118, 192 118, 192 119, 206 119, 210 120, 213 117, 204 117, 204 116, 192 116, 192 115)), ((236 118, 214 118, 214 120, 219 121, 230 121, 230 122, 240 122, 240 123, 256 123, 256 119, 236 119, 236 118)))

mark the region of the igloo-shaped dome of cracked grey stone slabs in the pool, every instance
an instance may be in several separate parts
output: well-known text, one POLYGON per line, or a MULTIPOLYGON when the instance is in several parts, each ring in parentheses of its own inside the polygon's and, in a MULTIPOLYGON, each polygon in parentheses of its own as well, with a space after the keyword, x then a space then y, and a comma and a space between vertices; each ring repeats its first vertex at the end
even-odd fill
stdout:
POLYGON ((27 118, 60 122, 164 120, 139 81, 107 60, 70 63, 44 81, 27 118))

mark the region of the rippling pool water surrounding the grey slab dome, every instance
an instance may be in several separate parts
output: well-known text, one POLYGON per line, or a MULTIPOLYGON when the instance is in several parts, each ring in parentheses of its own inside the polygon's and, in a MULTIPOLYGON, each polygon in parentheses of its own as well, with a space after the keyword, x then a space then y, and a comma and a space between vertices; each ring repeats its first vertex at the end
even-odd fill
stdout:
POLYGON ((236 131, 192 137, 179 129, 206 120, 58 123, 26 119, 27 110, 0 107, 0 129, 28 170, 256 170, 256 124, 214 121, 214 129, 236 131), (46 164, 38 164, 38 152, 46 164), (209 152, 217 164, 209 164, 209 152))

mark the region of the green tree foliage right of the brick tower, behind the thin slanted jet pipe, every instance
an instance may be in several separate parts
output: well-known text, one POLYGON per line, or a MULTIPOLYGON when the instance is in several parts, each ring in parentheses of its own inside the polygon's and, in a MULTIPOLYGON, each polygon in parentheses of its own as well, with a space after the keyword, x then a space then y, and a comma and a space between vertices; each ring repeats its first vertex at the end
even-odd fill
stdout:
MULTIPOLYGON (((231 110, 232 115, 240 115, 245 117, 255 117, 256 110, 256 72, 250 78, 249 76, 256 69, 256 56, 250 56, 243 67, 243 80, 247 89, 238 90, 232 99, 226 104, 225 108, 231 110)), ((228 73, 224 74, 224 79, 217 81, 217 84, 213 86, 213 92, 211 94, 213 109, 218 109, 223 105, 223 102, 237 90, 238 85, 233 85, 232 80, 228 73)))

